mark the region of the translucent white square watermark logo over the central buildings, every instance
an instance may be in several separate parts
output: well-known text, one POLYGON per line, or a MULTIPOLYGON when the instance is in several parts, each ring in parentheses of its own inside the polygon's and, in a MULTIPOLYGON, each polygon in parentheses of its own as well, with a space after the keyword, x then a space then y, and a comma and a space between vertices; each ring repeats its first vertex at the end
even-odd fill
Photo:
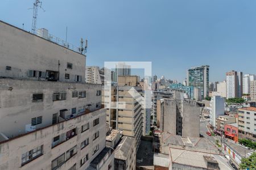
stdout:
POLYGON ((104 62, 104 104, 109 109, 126 109, 126 102, 135 99, 143 109, 151 108, 151 62, 104 62), (136 73, 143 70, 143 82, 135 81, 136 73), (119 79, 118 79, 119 78, 119 79), (130 79, 129 79, 130 78, 130 79), (129 97, 123 100, 124 97, 129 97))

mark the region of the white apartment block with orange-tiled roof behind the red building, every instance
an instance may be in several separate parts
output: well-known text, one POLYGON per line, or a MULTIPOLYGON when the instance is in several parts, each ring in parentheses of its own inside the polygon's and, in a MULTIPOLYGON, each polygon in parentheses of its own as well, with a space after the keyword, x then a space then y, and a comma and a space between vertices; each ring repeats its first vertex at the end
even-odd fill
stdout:
POLYGON ((240 138, 256 141, 256 108, 238 109, 238 132, 240 138))

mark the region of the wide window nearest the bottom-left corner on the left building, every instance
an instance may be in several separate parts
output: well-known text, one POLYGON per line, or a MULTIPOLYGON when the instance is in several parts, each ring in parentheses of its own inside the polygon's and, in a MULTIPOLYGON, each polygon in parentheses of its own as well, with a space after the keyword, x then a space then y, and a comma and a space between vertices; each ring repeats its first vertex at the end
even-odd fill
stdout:
POLYGON ((22 154, 22 166, 31 162, 31 160, 38 158, 40 155, 43 155, 43 145, 22 154))

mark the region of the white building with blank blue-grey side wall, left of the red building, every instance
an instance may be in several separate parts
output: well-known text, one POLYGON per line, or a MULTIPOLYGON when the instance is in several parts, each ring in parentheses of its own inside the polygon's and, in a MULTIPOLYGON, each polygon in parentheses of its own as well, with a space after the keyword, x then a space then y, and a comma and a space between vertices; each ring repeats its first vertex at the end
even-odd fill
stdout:
POLYGON ((216 118, 224 114, 224 98, 213 96, 210 100, 210 124, 216 128, 216 118))

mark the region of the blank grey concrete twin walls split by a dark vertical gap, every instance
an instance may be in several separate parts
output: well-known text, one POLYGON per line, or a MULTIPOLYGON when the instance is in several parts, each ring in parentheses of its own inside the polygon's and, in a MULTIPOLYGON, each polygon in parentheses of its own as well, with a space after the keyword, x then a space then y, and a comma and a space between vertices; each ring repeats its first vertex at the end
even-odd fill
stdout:
POLYGON ((160 133, 169 132, 182 137, 199 137, 200 107, 193 100, 164 99, 159 102, 160 133))

